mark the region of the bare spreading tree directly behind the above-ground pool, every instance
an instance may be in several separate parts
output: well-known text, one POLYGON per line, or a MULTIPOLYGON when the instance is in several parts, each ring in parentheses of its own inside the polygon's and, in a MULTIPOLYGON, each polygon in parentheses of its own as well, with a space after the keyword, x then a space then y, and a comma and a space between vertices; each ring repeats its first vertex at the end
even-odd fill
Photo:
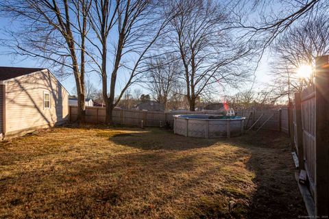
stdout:
POLYGON ((247 79, 242 61, 252 53, 252 47, 234 41, 226 26, 229 14, 217 1, 173 0, 169 8, 177 14, 165 40, 167 48, 180 57, 184 69, 181 80, 194 111, 195 101, 214 92, 212 88, 239 86, 247 79))

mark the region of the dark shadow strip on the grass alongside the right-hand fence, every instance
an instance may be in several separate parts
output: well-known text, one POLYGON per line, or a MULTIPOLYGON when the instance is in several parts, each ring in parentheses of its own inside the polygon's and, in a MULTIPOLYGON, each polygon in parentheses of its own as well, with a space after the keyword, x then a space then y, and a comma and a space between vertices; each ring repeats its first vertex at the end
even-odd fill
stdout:
POLYGON ((294 177, 289 138, 283 133, 262 131, 252 142, 243 139, 252 156, 246 167, 255 172, 256 192, 250 201, 247 218, 298 218, 307 216, 294 177))

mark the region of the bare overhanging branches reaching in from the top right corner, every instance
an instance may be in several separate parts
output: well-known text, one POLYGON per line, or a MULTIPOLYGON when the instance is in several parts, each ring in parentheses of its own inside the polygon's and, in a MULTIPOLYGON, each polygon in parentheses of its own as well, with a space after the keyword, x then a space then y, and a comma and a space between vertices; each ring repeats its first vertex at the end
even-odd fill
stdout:
POLYGON ((329 8, 326 0, 254 0, 252 3, 236 0, 233 5, 235 19, 231 21, 232 27, 245 30, 241 38, 258 41, 261 55, 289 27, 308 21, 329 8))

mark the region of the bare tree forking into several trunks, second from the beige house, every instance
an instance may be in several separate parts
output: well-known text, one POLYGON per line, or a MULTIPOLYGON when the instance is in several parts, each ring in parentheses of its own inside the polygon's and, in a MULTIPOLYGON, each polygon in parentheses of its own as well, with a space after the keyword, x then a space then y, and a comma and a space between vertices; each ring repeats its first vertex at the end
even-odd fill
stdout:
POLYGON ((145 55, 168 22, 167 18, 160 16, 159 9, 155 1, 147 0, 93 3, 89 22, 99 40, 93 45, 99 53, 97 71, 101 74, 103 100, 106 102, 106 123, 112 123, 112 110, 125 90, 143 73, 145 55), (116 37, 111 38, 111 34, 116 37), (108 47, 109 44, 112 47, 108 47), (111 67, 108 66, 109 56, 113 60, 111 67), (114 99, 119 74, 126 80, 121 81, 121 92, 114 99))

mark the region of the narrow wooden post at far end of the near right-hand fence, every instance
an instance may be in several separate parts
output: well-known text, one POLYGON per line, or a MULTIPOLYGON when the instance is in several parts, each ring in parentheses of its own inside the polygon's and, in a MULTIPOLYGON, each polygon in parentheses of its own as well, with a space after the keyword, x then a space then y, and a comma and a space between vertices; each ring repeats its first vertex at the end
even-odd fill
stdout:
POLYGON ((298 162, 300 170, 304 170, 304 146, 303 146, 303 129, 302 129, 302 103, 300 93, 295 93, 295 117, 296 117, 296 136, 298 149, 298 162))

